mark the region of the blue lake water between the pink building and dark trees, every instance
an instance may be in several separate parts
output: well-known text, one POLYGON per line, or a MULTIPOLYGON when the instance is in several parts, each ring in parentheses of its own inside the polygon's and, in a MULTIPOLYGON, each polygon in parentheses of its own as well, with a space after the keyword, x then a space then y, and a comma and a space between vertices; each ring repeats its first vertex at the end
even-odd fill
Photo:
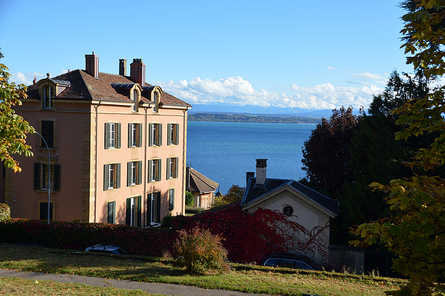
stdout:
POLYGON ((299 180, 302 147, 315 124, 188 122, 187 164, 220 183, 245 186, 245 173, 256 172, 257 158, 267 158, 269 178, 299 180))

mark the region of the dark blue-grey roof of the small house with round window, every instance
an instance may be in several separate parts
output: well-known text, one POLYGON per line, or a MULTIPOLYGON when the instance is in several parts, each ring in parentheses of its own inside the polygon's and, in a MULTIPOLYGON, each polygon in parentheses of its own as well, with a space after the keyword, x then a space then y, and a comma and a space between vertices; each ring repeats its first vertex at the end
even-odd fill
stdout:
POLYGON ((312 199, 314 202, 316 202, 320 206, 323 206, 323 208, 326 208, 328 211, 334 213, 335 215, 339 214, 339 202, 336 202, 334 201, 334 199, 330 199, 329 197, 322 195, 321 193, 312 190, 311 188, 304 186, 297 181, 289 179, 266 179, 264 186, 255 186, 255 183, 256 178, 249 179, 243 200, 241 201, 241 206, 250 204, 250 202, 254 202, 264 195, 287 185, 291 186, 295 190, 298 190, 303 195, 305 195, 309 199, 312 199))

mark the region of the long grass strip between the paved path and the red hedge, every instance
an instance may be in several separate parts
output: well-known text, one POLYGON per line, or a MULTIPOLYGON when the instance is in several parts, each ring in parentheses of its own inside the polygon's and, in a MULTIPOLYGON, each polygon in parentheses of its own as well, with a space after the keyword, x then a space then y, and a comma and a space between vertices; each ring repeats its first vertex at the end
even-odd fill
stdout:
POLYGON ((201 276, 191 276, 186 274, 184 269, 173 267, 172 259, 168 258, 98 256, 83 252, 9 244, 0 244, 0 249, 0 268, 3 269, 177 283, 247 293, 383 295, 385 291, 395 290, 404 283, 399 279, 361 274, 312 272, 238 264, 232 264, 232 268, 227 272, 209 272, 201 276))

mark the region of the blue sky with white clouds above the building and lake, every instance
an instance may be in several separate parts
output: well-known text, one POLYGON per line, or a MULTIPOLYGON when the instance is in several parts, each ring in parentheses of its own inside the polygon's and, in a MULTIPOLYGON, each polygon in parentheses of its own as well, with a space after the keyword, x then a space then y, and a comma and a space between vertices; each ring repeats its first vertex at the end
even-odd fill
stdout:
POLYGON ((394 69, 412 72, 399 4, 1 0, 0 63, 29 85, 84 69, 92 51, 113 74, 120 58, 143 58, 146 81, 195 110, 367 107, 394 69))

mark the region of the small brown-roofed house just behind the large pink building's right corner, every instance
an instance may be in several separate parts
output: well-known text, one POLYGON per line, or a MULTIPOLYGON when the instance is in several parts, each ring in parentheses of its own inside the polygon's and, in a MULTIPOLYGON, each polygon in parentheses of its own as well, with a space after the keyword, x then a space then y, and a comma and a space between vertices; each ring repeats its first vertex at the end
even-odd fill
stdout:
POLYGON ((193 194, 193 208, 210 208, 219 183, 209 179, 192 167, 186 167, 186 189, 193 194))

